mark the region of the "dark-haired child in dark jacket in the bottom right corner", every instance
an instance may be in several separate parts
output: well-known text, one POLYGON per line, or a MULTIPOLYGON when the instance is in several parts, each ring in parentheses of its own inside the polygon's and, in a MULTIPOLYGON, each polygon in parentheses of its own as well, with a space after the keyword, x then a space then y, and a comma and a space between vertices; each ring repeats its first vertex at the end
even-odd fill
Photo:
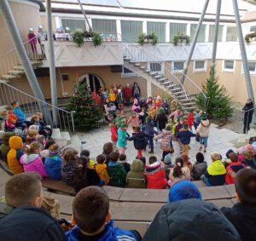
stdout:
POLYGON ((226 218, 236 227, 241 240, 256 237, 256 170, 241 169, 236 173, 236 199, 232 208, 222 208, 226 218))

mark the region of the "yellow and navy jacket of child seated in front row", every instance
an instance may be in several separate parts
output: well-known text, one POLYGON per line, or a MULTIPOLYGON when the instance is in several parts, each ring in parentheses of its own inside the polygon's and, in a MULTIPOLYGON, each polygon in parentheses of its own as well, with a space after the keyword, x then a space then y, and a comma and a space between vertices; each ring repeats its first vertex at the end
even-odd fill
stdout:
POLYGON ((207 167, 207 172, 205 173, 205 176, 207 177, 207 181, 210 184, 209 186, 221 186, 225 183, 225 175, 226 175, 226 169, 224 167, 224 164, 218 160, 212 162, 207 167))

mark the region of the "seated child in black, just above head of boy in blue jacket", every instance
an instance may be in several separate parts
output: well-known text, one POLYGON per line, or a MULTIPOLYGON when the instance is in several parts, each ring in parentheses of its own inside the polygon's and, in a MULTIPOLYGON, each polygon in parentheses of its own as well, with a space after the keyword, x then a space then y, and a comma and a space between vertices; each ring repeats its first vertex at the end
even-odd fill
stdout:
POLYGON ((79 169, 75 170, 74 175, 74 189, 79 192, 81 189, 87 186, 102 186, 102 181, 96 174, 95 169, 88 168, 89 158, 81 156, 79 158, 79 169))

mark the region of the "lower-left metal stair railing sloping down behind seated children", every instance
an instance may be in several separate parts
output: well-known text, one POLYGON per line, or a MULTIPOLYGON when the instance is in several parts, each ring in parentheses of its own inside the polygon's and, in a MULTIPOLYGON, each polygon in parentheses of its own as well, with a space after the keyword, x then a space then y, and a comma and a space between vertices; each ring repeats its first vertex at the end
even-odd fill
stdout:
POLYGON ((31 118, 32 115, 38 112, 50 113, 52 117, 52 109, 54 108, 57 112, 58 124, 54 125, 52 118, 49 118, 47 121, 51 127, 74 132, 74 112, 68 112, 63 108, 39 100, 37 97, 29 95, 9 83, 0 80, 0 106, 11 106, 14 100, 19 101, 20 108, 25 112, 27 118, 31 118))

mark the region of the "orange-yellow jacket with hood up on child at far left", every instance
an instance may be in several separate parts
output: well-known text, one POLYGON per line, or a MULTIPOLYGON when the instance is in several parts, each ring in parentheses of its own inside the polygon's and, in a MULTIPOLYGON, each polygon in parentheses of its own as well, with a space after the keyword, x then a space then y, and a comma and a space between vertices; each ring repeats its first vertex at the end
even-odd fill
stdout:
POLYGON ((12 136, 9 139, 9 146, 11 149, 7 154, 7 163, 9 170, 13 174, 19 174, 23 172, 23 166, 20 164, 20 157, 22 156, 22 139, 19 136, 12 136))

